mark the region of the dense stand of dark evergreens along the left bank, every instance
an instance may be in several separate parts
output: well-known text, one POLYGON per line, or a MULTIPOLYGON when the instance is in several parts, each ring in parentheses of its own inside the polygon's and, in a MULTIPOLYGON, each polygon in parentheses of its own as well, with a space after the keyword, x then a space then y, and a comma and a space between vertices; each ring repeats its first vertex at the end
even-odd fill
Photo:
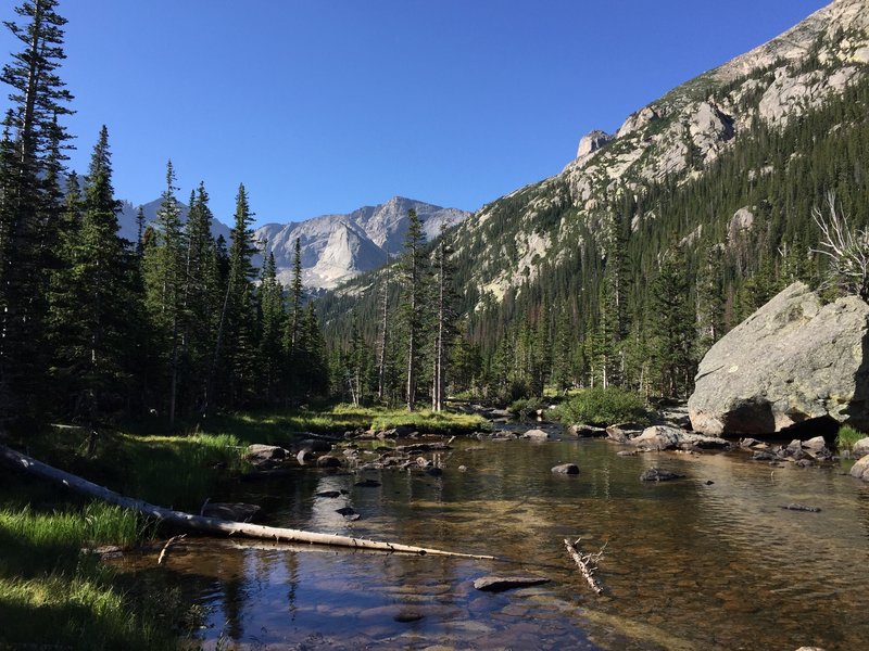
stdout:
POLYGON ((108 129, 84 177, 65 167, 66 21, 56 0, 15 12, 7 26, 22 49, 2 71, 12 92, 0 140, 0 426, 149 411, 174 422, 326 394, 299 242, 285 291, 267 247, 253 267, 244 186, 230 241, 215 240, 204 184, 181 218, 171 162, 156 220, 140 209, 137 241, 122 239, 108 129))

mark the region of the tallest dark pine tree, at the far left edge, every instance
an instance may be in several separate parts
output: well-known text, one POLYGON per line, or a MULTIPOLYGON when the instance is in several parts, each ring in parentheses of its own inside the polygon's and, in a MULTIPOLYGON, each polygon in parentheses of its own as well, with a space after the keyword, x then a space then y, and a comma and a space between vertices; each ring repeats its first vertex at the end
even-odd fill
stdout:
POLYGON ((55 0, 22 2, 5 26, 23 50, 0 79, 12 108, 0 145, 0 426, 37 416, 48 371, 45 316, 48 271, 62 207, 58 177, 72 95, 56 75, 64 59, 55 0))

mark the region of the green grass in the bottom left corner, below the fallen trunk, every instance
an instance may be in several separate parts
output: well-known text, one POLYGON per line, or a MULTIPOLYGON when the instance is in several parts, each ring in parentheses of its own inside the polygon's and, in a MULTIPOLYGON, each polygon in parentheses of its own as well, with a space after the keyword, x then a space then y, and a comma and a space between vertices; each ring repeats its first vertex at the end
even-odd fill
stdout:
POLYGON ((103 503, 0 509, 0 648, 175 648, 160 614, 165 621, 180 603, 154 593, 133 608, 114 572, 87 551, 141 533, 137 515, 103 503))

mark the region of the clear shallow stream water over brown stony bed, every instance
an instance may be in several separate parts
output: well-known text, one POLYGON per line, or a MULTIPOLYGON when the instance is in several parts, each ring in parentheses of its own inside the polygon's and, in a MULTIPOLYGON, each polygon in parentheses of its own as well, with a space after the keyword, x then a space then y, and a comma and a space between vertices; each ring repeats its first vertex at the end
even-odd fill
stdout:
MULTIPOLYGON (((619 457, 603 441, 456 441, 442 477, 297 476, 242 485, 269 524, 493 554, 507 562, 200 539, 167 572, 205 612, 205 648, 862 649, 869 486, 842 468, 770 468, 745 452, 619 457), (554 475, 576 462, 578 476, 554 475), (459 471, 466 465, 467 471, 459 471), (639 481, 650 467, 687 475, 639 481), (376 478, 377 488, 354 487, 376 478), (316 497, 345 489, 340 498, 316 497), (784 510, 799 502, 819 512, 784 510), (348 522, 336 509, 352 506, 348 522), (605 546, 595 596, 564 538, 605 546), (474 579, 549 584, 481 592, 474 579), (406 621, 413 620, 413 621, 406 621)), ((129 571, 154 560, 127 559, 129 571)))

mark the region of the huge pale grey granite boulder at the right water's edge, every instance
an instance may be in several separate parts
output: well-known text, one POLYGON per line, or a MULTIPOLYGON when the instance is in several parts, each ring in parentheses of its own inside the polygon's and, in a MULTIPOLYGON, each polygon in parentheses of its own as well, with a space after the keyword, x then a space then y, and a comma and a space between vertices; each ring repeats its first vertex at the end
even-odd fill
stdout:
POLYGON ((694 431, 770 434, 834 419, 869 427, 869 305, 821 306, 794 283, 717 342, 688 401, 694 431))

